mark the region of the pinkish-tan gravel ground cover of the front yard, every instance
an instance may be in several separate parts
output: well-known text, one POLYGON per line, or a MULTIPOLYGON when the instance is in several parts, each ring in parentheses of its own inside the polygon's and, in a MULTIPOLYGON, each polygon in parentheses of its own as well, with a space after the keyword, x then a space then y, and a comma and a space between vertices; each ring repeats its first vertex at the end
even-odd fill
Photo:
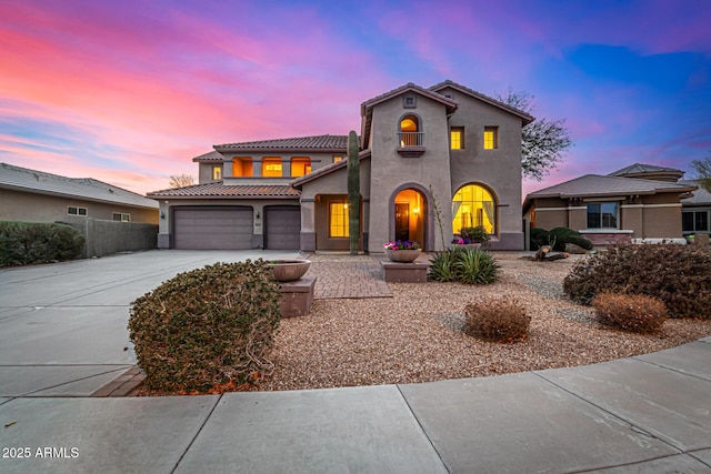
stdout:
MULTIPOLYGON (((392 297, 317 300, 304 317, 282 320, 260 390, 323 389, 431 382, 568 367, 661 351, 711 335, 711 320, 668 320, 657 335, 598 325, 569 302, 562 280, 574 261, 522 260, 497 253, 499 281, 388 283, 392 297), (518 299, 531 315, 518 343, 478 341, 461 331, 467 303, 490 295, 518 299)), ((314 255, 328 260, 328 256, 314 255)), ((318 260, 317 260, 318 261, 318 260)))

